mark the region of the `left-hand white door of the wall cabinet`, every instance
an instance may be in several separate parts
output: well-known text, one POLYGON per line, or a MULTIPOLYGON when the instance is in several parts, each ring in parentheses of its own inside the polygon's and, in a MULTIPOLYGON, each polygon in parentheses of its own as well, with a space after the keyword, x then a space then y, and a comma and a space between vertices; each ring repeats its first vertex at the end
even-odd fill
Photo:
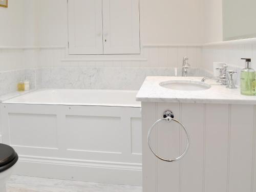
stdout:
POLYGON ((103 54, 102 0, 69 0, 69 54, 103 54))

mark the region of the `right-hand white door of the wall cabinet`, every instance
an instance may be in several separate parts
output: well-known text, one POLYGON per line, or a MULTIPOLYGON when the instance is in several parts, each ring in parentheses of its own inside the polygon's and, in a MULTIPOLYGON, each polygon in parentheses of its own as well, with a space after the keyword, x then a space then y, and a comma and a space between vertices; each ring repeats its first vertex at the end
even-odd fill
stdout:
POLYGON ((139 0, 102 2, 104 54, 139 54, 139 0))

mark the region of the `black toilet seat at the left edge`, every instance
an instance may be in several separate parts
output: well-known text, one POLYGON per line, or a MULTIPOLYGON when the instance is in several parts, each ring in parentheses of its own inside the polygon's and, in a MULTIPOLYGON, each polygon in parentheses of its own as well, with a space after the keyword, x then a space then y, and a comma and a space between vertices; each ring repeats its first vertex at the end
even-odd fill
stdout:
POLYGON ((18 161, 18 155, 14 149, 0 143, 0 173, 12 167, 18 161))

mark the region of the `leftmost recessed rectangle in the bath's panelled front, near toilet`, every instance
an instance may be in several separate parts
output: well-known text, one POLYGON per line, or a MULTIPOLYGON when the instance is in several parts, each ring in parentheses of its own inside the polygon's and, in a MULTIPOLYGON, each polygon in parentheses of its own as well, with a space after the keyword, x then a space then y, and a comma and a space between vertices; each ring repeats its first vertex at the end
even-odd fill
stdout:
POLYGON ((9 113, 10 144, 57 148, 56 115, 9 113))

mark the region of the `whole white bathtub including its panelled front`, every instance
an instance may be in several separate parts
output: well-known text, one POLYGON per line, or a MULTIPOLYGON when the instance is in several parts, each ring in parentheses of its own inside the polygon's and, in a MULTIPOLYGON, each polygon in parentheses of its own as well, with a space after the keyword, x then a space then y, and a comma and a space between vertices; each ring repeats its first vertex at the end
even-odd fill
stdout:
POLYGON ((16 174, 141 185, 137 91, 38 90, 1 103, 16 174))

